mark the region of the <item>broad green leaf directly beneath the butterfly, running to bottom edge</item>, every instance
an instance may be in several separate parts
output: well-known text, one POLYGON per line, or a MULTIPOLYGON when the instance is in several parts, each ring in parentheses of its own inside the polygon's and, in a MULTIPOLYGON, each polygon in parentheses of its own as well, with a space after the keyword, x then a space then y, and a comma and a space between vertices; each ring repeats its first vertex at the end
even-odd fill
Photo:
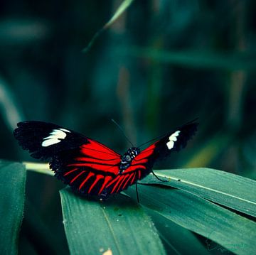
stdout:
POLYGON ((129 197, 93 201, 69 188, 60 197, 71 254, 165 254, 151 219, 129 197))

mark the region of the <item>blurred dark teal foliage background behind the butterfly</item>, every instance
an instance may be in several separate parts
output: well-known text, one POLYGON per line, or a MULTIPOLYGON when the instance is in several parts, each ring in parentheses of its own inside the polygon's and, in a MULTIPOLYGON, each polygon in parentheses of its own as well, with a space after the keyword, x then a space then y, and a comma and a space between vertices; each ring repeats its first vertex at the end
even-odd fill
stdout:
MULTIPOLYGON (((124 153, 129 143, 111 119, 139 146, 198 117, 187 148, 155 168, 255 179, 255 1, 137 0, 82 53, 121 3, 1 1, 1 158, 33 161, 12 136, 18 121, 53 122, 124 153)), ((36 173, 27 183, 26 213, 39 208, 38 220, 61 232, 62 184, 36 173)), ((21 246, 32 252, 31 220, 21 246)))

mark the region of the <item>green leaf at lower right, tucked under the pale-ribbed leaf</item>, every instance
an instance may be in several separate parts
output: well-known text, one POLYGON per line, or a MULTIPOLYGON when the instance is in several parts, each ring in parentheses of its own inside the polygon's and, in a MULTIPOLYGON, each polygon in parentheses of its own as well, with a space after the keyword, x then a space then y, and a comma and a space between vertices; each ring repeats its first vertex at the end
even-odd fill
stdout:
MULTIPOLYGON (((134 188, 127 190, 136 198, 134 188)), ((176 224, 201 234, 235 254, 255 252, 256 224, 229 210, 183 190, 139 185, 142 205, 176 224)))

